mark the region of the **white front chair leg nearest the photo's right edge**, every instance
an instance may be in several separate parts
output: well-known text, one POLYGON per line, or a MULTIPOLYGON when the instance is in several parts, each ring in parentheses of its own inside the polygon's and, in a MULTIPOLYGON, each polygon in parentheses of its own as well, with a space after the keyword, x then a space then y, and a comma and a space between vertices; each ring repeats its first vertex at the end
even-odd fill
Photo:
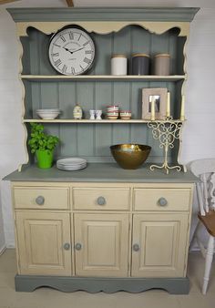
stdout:
POLYGON ((214 248, 214 237, 210 235, 209 242, 208 242, 208 248, 206 252, 206 260, 205 260, 205 273, 204 273, 204 280, 203 280, 203 286, 202 286, 203 294, 206 294, 208 283, 209 283, 210 268, 211 268, 211 263, 213 260, 213 248, 214 248))

